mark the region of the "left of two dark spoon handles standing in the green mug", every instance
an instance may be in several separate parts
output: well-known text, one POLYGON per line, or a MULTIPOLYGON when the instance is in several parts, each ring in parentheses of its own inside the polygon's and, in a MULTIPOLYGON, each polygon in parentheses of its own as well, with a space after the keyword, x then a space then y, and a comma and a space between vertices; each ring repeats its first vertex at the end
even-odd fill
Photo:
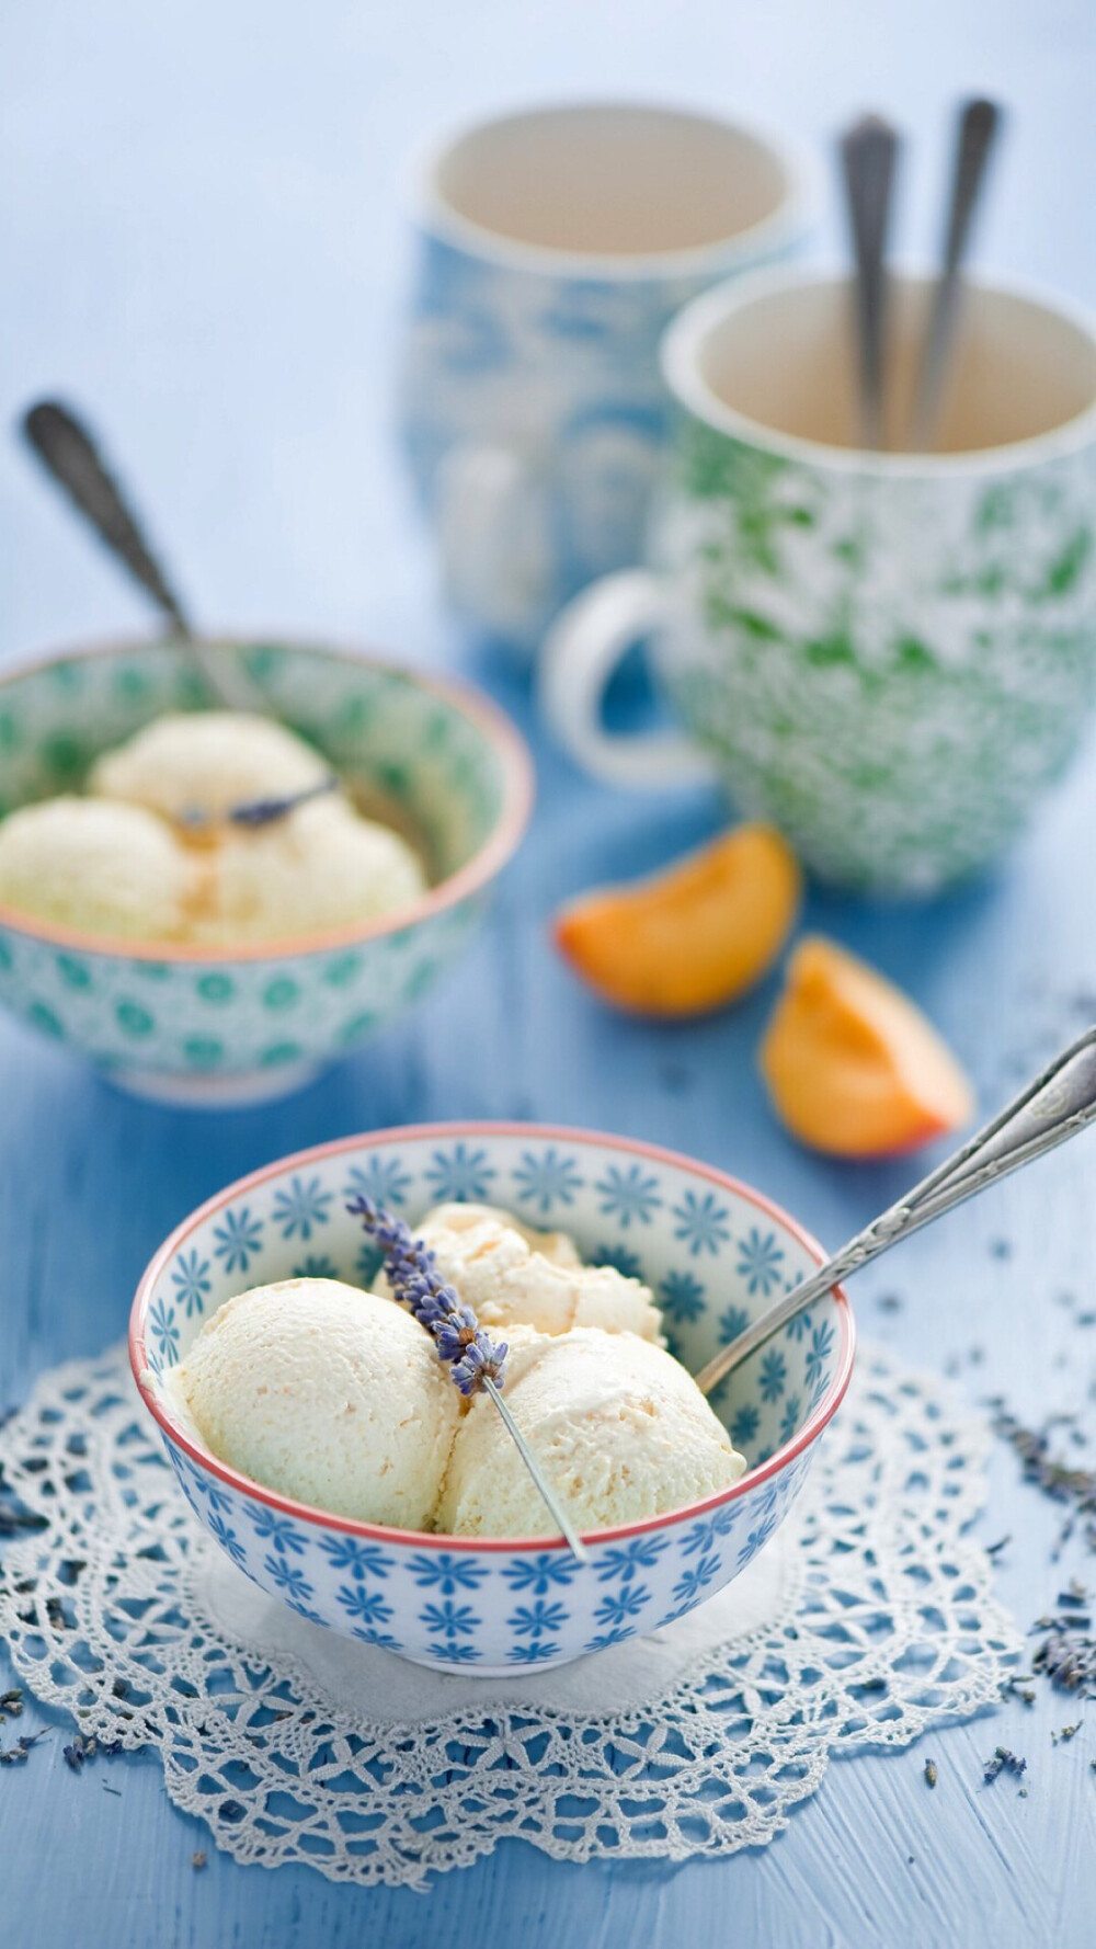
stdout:
POLYGON ((856 349, 860 374, 860 439, 883 444, 887 224, 899 152, 897 129, 881 115, 864 115, 841 138, 841 164, 852 257, 856 269, 856 349))

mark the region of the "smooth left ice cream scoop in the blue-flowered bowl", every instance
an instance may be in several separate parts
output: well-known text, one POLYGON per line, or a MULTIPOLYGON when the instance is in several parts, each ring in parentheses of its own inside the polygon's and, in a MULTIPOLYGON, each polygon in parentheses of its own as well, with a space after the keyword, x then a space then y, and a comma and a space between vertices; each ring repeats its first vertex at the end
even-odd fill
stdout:
POLYGON ((460 1394, 429 1333, 337 1279, 226 1300, 168 1376, 222 1462, 335 1516, 431 1526, 460 1394))

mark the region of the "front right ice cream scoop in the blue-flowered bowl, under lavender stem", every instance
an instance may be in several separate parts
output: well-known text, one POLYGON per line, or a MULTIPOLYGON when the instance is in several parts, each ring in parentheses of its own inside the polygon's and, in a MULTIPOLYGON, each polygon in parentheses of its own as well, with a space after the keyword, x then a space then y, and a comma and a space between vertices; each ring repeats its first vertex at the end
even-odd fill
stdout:
MULTIPOLYGON (((731 1448, 696 1382, 634 1333, 519 1327, 509 1409, 579 1530, 659 1516, 731 1487, 731 1448)), ((486 1395, 456 1429, 435 1528, 450 1536, 548 1536, 554 1522, 486 1395)))

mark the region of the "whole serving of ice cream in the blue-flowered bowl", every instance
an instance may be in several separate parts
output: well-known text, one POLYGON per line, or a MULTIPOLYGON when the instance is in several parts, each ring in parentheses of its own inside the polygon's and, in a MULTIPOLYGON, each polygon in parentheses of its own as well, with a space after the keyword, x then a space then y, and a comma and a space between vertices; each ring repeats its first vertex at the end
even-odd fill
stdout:
MULTIPOLYGON (((437 1206, 417 1230, 480 1325, 505 1327, 509 1411, 579 1530, 667 1514, 739 1479, 745 1460, 692 1376, 653 1331, 622 1323, 657 1331, 640 1280, 608 1282, 616 1314, 595 1282, 603 1321, 571 1325, 581 1275, 605 1269, 583 1267, 568 1234, 468 1204, 437 1206), (569 1298, 534 1261, 566 1275, 569 1298), (515 1323, 515 1310, 552 1325, 515 1323)), ((452 1536, 556 1534, 495 1403, 462 1401, 431 1335, 380 1284, 254 1286, 213 1314, 164 1386, 213 1454, 294 1501, 452 1536)))

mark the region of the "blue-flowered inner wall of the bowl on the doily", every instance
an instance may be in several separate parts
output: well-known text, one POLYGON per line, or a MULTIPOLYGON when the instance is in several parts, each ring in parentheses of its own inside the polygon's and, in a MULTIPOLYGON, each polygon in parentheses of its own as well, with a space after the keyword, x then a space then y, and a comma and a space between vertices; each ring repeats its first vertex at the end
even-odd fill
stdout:
MULTIPOLYGON (((357 1193, 411 1224, 439 1201, 507 1206, 571 1232, 583 1257, 647 1280, 671 1351, 698 1370, 819 1261, 757 1193, 671 1152, 579 1130, 435 1127, 390 1130, 302 1152, 215 1199, 162 1247, 135 1306, 140 1368, 158 1405, 166 1368, 222 1300, 273 1279, 369 1284, 376 1249, 345 1210, 357 1193)), ((712 1395, 751 1468, 802 1433, 842 1384, 852 1355, 848 1304, 829 1294, 712 1395)))

